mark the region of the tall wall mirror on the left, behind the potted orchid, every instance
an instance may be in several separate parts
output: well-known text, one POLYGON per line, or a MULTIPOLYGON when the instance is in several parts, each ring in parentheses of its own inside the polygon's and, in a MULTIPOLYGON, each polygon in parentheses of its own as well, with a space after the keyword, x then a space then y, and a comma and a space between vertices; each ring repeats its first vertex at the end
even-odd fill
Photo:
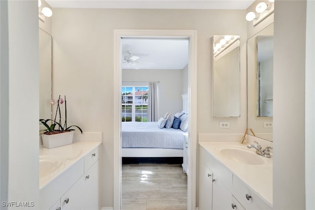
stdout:
MULTIPOLYGON (((52 37, 39 29, 39 119, 52 118, 52 37)), ((39 125, 39 130, 44 129, 39 125)))

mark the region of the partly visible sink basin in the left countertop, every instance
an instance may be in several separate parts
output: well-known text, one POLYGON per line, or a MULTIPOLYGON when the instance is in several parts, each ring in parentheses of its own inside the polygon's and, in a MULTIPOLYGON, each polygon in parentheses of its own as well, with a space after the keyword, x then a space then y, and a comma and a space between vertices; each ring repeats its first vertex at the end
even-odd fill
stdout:
POLYGON ((39 177, 46 176, 63 163, 63 159, 53 155, 39 155, 39 177))

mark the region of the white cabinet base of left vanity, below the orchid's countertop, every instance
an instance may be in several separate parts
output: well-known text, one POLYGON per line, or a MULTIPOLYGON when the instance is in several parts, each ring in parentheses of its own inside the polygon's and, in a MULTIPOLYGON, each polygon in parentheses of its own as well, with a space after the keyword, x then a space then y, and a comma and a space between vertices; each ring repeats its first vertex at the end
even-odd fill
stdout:
POLYGON ((96 147, 41 188, 39 209, 99 210, 98 162, 96 147))

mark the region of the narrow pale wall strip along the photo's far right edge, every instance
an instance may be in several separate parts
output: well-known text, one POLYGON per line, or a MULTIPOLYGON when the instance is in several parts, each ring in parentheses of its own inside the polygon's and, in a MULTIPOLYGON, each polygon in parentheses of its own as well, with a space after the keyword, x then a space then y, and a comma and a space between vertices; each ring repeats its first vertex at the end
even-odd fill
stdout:
POLYGON ((315 207, 315 1, 307 1, 305 63, 305 188, 306 209, 315 207))

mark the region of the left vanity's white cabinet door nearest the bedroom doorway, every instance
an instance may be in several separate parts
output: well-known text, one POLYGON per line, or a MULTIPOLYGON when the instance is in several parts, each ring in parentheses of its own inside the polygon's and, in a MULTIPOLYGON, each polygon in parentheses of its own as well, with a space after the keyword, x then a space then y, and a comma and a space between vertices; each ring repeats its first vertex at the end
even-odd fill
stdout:
POLYGON ((84 209, 98 210, 98 160, 85 173, 84 178, 84 209))

